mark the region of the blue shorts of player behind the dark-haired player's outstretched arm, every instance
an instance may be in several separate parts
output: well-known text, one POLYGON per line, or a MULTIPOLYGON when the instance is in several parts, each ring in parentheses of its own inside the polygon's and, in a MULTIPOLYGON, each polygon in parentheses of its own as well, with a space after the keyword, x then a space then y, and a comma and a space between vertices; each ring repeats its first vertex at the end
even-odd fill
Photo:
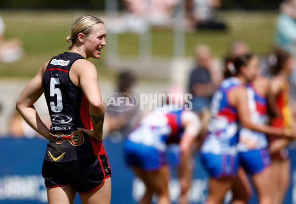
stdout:
POLYGON ((270 155, 267 149, 240 152, 238 154, 240 164, 249 174, 257 174, 271 164, 270 155))

